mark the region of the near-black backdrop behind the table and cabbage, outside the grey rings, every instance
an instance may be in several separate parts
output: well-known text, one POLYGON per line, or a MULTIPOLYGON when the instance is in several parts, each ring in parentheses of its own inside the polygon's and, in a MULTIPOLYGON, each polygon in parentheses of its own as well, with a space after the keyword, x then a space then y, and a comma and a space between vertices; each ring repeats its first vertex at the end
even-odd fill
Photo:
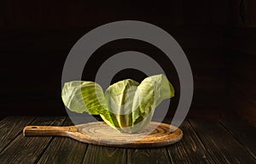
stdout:
MULTIPOLYGON (((0 115, 67 115, 61 102, 61 71, 73 44, 99 25, 141 20, 169 32, 187 54, 195 80, 190 117, 241 116, 256 124, 255 8, 254 0, 2 0, 0 115)), ((90 74, 84 80, 94 80, 96 65, 106 56, 125 50, 154 56, 170 68, 167 76, 177 89, 171 105, 175 110, 179 86, 172 63, 145 42, 102 46, 85 66, 90 74)), ((126 74, 120 72, 113 81, 126 74)))

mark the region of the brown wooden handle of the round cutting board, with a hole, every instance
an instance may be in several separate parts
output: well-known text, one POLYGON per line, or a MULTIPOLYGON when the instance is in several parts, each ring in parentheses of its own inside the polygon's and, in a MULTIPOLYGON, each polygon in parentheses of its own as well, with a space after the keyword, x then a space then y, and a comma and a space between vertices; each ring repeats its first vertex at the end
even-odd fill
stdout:
POLYGON ((26 126, 23 129, 23 136, 63 136, 67 132, 78 132, 78 128, 75 126, 26 126))

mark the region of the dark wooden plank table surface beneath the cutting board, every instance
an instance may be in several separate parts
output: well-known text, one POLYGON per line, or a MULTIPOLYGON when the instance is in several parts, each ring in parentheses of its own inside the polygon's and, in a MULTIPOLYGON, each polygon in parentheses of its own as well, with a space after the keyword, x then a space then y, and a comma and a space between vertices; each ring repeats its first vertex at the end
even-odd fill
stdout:
POLYGON ((23 137, 26 125, 67 126, 66 116, 8 116, 0 121, 0 163, 256 163, 256 131, 247 122, 187 119, 183 139, 154 149, 120 149, 64 137, 23 137))

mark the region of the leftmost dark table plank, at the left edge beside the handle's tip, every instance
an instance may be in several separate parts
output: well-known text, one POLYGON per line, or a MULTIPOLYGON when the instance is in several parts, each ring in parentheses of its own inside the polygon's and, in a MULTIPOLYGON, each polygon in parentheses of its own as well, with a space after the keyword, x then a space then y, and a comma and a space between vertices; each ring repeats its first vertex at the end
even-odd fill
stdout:
POLYGON ((13 140, 23 127, 32 122, 33 116, 8 116, 0 122, 0 152, 13 140))

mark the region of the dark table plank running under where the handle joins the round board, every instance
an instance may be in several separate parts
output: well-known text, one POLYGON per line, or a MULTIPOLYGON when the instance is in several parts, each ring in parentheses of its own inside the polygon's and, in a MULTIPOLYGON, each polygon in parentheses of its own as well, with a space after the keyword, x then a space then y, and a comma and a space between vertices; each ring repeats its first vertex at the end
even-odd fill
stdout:
MULTIPOLYGON (((69 118, 63 126, 73 125, 69 118)), ((38 163, 82 163, 87 144, 74 139, 57 137, 52 140, 38 163)))

